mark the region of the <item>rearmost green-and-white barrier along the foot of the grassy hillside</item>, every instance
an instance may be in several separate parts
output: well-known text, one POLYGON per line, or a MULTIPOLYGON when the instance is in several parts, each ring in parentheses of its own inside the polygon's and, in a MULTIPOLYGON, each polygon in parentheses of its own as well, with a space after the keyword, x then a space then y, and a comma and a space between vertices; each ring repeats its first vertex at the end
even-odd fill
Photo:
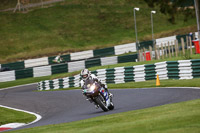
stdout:
MULTIPOLYGON (((195 33, 195 35, 197 32, 195 33)), ((170 45, 174 45, 174 40, 180 41, 180 38, 183 37, 186 41, 186 35, 177 35, 177 36, 170 36, 170 37, 164 37, 164 38, 158 38, 156 39, 156 45, 161 47, 161 43, 168 43, 173 42, 170 45)), ((144 41, 140 42, 139 48, 149 48, 149 45, 153 46, 153 41, 144 41)), ((61 55, 61 58, 64 60, 64 62, 71 62, 75 60, 83 60, 88 58, 95 58, 95 57, 106 57, 110 55, 120 55, 128 52, 136 52, 136 44, 135 43, 129 43, 129 44, 123 44, 123 45, 117 45, 114 47, 109 48, 103 48, 103 49, 96 49, 96 50, 88 50, 88 51, 82 51, 82 52, 75 52, 67 55, 61 55)), ((55 64, 53 60, 56 56, 52 57, 43 57, 38 59, 28 59, 24 61, 14 62, 14 63, 8 63, 8 64, 0 64, 1 67, 8 67, 11 70, 20 70, 24 68, 30 68, 35 66, 44 66, 44 65, 52 65, 55 64)))

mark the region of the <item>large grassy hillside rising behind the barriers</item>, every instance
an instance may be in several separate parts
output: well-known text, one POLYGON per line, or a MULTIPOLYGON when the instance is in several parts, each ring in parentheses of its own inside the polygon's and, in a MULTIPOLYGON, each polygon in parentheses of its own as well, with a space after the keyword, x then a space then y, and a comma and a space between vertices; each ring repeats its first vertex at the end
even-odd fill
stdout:
POLYGON ((196 30, 195 16, 184 22, 179 13, 176 24, 171 24, 158 7, 151 9, 143 0, 66 0, 53 5, 28 13, 0 12, 1 64, 134 42, 133 7, 140 7, 140 41, 151 40, 151 10, 157 11, 156 38, 196 30))

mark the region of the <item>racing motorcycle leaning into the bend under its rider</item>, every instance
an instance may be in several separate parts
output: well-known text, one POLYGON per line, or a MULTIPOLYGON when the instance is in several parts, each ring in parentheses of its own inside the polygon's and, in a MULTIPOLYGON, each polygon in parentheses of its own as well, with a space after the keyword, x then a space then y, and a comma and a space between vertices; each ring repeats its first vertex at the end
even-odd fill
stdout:
POLYGON ((110 97, 108 92, 101 87, 100 83, 97 83, 92 79, 85 81, 83 94, 90 102, 94 102, 95 105, 101 107, 101 109, 105 112, 114 109, 112 97, 110 97))

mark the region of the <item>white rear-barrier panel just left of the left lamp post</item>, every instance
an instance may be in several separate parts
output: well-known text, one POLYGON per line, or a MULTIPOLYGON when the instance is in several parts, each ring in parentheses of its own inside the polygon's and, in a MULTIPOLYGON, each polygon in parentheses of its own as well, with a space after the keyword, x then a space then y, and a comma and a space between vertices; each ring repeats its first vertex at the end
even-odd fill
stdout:
POLYGON ((120 54, 124 54, 124 53, 129 53, 129 52, 136 52, 136 44, 135 43, 117 45, 114 48, 115 48, 115 55, 120 55, 120 54))

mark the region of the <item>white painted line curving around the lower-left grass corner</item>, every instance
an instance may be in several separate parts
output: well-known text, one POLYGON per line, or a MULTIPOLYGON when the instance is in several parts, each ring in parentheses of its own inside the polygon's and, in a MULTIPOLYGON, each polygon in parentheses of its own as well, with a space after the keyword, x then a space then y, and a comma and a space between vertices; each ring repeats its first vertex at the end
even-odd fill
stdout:
MULTIPOLYGON (((25 113, 28 113, 28 114, 32 114, 32 115, 35 115, 36 116, 36 119, 28 124, 25 124, 23 126, 27 126, 27 125, 30 125, 30 124, 33 124, 33 123, 36 123, 37 121, 39 121, 40 119, 42 119, 42 116, 39 115, 39 114, 36 114, 36 113, 33 113, 33 112, 30 112, 30 111, 26 111, 26 110, 22 110, 22 109, 16 109, 16 108, 12 108, 12 107, 8 107, 8 106, 4 106, 4 105, 0 105, 0 107, 3 107, 3 108, 7 108, 7 109, 12 109, 12 110, 15 110, 15 111, 21 111, 21 112, 25 112, 25 113)), ((20 126, 22 127, 22 126, 20 126)))

